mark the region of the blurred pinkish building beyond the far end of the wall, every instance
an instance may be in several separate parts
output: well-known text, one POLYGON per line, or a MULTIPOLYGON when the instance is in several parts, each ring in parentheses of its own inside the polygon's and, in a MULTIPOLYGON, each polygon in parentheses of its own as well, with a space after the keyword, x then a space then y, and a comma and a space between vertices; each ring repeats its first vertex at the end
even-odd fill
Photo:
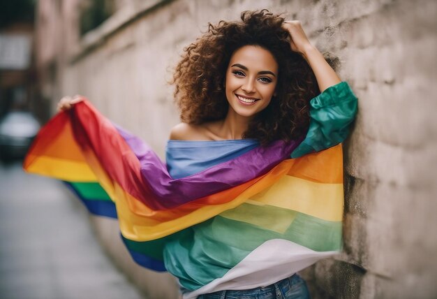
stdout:
MULTIPOLYGON (((115 10, 114 0, 38 1, 36 12, 36 70, 43 101, 54 103, 66 95, 66 68, 81 52, 82 37, 115 10)), ((51 105, 50 105, 51 104, 51 105)))

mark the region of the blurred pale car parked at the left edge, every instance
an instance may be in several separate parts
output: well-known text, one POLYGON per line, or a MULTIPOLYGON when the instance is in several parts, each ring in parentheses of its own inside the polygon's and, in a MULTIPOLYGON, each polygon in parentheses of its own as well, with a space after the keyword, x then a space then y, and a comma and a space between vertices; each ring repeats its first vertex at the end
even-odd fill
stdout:
POLYGON ((39 129, 30 112, 8 112, 0 119, 0 158, 23 158, 39 129))

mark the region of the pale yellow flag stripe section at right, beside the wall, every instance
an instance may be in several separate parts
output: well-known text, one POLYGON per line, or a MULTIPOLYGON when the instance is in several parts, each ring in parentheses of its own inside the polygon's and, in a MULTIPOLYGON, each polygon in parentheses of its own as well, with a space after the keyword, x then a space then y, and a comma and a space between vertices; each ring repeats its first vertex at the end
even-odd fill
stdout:
POLYGON ((286 175, 247 203, 274 205, 327 221, 341 221, 343 184, 316 183, 286 175))

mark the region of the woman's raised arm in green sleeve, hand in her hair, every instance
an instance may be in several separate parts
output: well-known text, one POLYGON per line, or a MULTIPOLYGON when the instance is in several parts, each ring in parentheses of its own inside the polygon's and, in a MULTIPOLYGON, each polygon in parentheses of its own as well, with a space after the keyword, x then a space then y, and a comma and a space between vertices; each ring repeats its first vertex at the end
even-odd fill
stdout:
POLYGON ((323 54, 311 45, 299 21, 284 22, 283 27, 290 33, 291 50, 302 54, 311 66, 321 92, 310 101, 309 130, 291 154, 297 158, 343 142, 357 114, 357 97, 348 83, 341 82, 323 54))

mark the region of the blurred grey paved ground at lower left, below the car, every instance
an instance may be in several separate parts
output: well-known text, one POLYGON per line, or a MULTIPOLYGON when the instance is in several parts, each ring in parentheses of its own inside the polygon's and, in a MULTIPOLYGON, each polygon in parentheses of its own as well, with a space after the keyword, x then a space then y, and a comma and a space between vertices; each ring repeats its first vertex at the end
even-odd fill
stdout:
POLYGON ((0 162, 1 299, 140 299, 55 180, 0 162))

